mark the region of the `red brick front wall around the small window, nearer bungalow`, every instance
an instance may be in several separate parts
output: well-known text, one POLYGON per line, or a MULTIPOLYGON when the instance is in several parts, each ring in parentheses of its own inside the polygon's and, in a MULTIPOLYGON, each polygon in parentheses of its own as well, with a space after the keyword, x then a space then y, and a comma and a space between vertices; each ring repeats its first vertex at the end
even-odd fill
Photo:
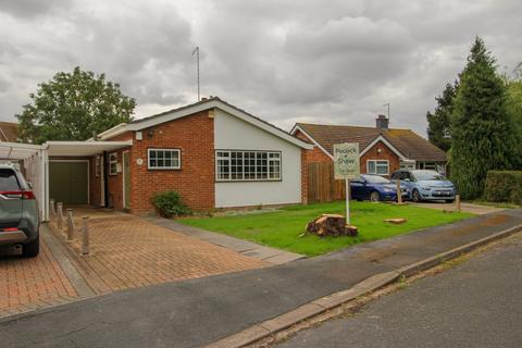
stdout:
MULTIPOLYGON (((214 208, 214 124, 208 111, 142 129, 142 140, 134 139, 130 148, 130 211, 144 213, 153 210, 150 202, 154 194, 165 190, 179 192, 183 201, 194 210, 214 208), (153 132, 149 138, 149 129, 153 132), (181 170, 148 170, 147 149, 181 150, 181 170), (137 159, 144 163, 138 165, 137 159)), ((128 140, 126 133, 110 140, 128 140)), ((119 162, 122 162, 119 151, 119 162)), ((114 208, 123 202, 123 174, 109 176, 109 192, 114 208)))

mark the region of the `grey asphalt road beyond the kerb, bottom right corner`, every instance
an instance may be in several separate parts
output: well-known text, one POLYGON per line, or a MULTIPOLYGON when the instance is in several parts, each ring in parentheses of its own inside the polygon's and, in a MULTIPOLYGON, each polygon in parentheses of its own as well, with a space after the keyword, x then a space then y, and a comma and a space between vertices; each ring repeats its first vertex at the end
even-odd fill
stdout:
POLYGON ((522 347, 522 234, 277 347, 522 347))

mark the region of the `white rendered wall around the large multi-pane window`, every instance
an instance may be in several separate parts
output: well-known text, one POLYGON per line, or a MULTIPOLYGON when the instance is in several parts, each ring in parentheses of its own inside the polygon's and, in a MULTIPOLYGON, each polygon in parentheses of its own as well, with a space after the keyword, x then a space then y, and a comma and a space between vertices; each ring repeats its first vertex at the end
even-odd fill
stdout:
POLYGON ((279 182, 216 182, 215 207, 301 202, 301 149, 224 111, 215 109, 215 150, 282 152, 279 182))

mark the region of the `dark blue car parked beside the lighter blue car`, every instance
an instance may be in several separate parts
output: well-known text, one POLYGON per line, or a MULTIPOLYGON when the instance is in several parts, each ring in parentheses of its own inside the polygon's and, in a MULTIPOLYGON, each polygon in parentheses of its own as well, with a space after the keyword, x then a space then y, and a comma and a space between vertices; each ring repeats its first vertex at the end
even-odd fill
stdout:
MULTIPOLYGON (((396 201, 397 184, 378 175, 361 174, 358 179, 350 181, 351 198, 357 200, 376 201, 396 201)), ((407 188, 401 186, 405 197, 407 188)))

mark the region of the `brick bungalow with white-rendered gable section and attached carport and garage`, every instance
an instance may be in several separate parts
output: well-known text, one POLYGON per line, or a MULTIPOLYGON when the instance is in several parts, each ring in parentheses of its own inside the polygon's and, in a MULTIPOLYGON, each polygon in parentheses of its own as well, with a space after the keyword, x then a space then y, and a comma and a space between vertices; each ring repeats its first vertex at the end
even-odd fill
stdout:
POLYGON ((48 144, 49 198, 65 203, 144 213, 165 190, 200 211, 307 199, 312 145, 217 97, 65 145, 48 144))

